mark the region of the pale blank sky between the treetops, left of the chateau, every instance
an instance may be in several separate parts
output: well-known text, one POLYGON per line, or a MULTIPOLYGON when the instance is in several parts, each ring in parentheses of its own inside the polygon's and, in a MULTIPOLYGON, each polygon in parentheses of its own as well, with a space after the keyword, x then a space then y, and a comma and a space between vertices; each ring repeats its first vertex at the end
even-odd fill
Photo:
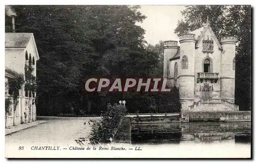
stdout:
POLYGON ((147 18, 137 25, 145 30, 145 40, 147 43, 156 44, 160 40, 176 40, 177 35, 174 29, 177 27, 178 20, 181 20, 181 11, 184 6, 141 6, 140 12, 147 18))

